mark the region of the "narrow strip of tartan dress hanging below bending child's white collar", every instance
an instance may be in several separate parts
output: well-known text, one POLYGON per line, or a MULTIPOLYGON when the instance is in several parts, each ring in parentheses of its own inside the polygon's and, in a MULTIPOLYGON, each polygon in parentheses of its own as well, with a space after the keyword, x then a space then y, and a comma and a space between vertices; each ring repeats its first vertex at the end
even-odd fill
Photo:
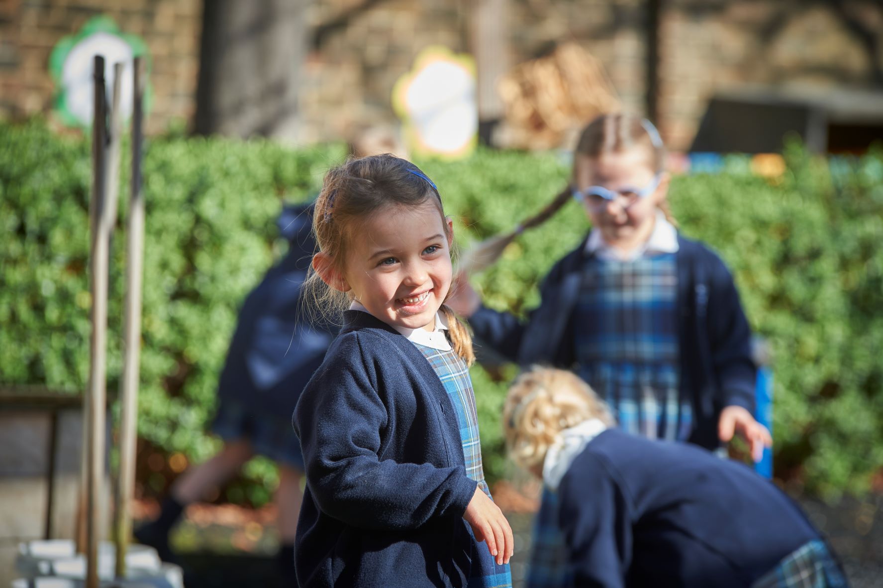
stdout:
POLYGON ((557 524, 558 494, 543 485, 540 510, 533 522, 531 560, 527 568, 530 588, 564 588, 573 582, 567 566, 567 546, 557 524))

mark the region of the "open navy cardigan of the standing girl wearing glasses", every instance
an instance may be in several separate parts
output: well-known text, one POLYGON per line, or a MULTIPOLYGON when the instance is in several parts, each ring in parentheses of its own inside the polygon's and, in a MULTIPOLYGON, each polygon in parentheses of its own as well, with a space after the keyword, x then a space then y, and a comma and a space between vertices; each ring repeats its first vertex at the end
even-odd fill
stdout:
MULTIPOLYGON (((680 234, 677 305, 680 312, 681 395, 691 399, 690 441, 709 449, 719 445, 721 409, 736 405, 754 413, 756 368, 751 360, 751 329, 727 267, 709 248, 680 234)), ((526 323, 482 306, 469 324, 477 340, 509 360, 574 367, 574 325, 583 266, 591 256, 585 241, 549 271, 540 286, 542 302, 526 323)), ((480 355, 480 346, 477 347, 480 355)))

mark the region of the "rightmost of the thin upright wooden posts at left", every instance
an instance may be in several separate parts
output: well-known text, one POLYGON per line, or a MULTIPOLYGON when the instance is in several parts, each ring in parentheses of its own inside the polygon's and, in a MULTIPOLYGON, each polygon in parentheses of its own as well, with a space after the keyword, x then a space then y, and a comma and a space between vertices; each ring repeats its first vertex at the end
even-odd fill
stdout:
POLYGON ((144 116, 144 61, 135 57, 132 109, 132 194, 125 248, 125 359, 120 401, 119 480, 114 522, 117 578, 125 577, 125 554, 132 536, 132 493, 135 486, 135 441, 138 435, 138 378, 141 350, 141 277, 144 258, 144 196, 141 193, 141 134, 144 116))

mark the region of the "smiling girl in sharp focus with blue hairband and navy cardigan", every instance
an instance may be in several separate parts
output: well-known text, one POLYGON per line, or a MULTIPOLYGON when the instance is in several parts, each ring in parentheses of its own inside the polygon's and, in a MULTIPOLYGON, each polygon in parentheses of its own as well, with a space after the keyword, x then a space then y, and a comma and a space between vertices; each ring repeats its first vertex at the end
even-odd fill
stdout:
POLYGON ((404 159, 356 159, 328 172, 313 229, 321 308, 349 309, 294 412, 299 585, 509 586, 472 341, 443 305, 453 233, 438 189, 404 159))

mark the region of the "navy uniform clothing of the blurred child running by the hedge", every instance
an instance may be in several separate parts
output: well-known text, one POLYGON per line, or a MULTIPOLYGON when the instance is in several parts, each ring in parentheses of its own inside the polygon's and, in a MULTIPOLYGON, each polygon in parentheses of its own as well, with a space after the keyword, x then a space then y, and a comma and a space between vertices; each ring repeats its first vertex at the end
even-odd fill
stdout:
POLYGON ((212 431, 225 441, 248 439, 257 454, 303 470, 291 411, 325 356, 336 327, 302 310, 315 240, 313 204, 287 206, 278 220, 289 242, 239 311, 236 331, 218 382, 212 431))

